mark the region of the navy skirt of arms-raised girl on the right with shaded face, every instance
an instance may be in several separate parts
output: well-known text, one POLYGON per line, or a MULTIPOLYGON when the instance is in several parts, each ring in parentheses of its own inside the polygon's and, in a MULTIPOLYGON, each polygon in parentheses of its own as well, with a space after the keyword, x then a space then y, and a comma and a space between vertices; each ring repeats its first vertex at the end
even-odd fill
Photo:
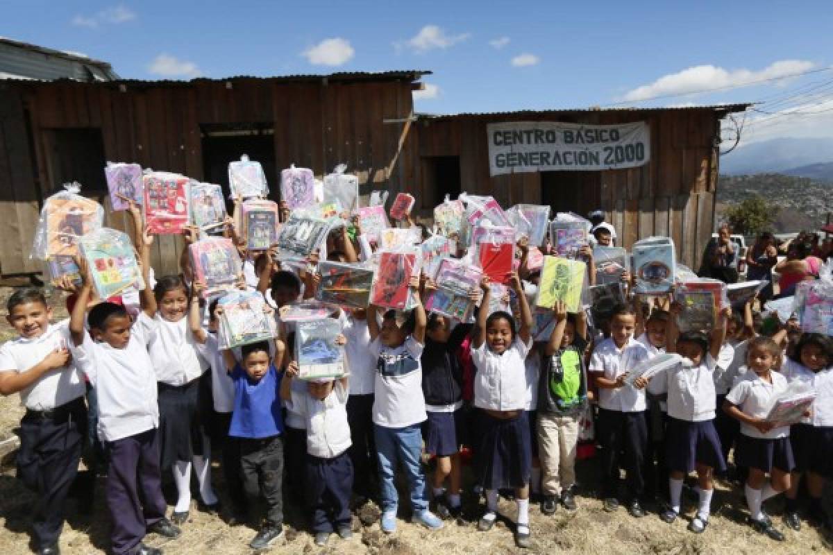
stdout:
POLYGON ((687 422, 669 417, 666 429, 666 464, 669 470, 690 473, 697 464, 718 472, 726 470, 721 439, 714 420, 687 422))

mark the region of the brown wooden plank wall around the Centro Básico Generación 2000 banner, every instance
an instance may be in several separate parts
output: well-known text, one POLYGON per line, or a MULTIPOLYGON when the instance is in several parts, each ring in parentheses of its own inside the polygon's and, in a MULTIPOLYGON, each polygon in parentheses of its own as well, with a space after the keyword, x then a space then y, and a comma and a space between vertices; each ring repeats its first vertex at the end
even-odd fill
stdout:
MULTIPOLYGON (((713 227, 716 191, 718 115, 709 109, 665 111, 543 112, 506 116, 450 116, 419 122, 418 141, 410 146, 419 156, 460 156, 462 190, 495 196, 502 206, 541 202, 542 177, 538 173, 489 176, 486 126, 497 121, 570 121, 614 124, 647 121, 651 128, 651 161, 626 170, 602 171, 599 191, 589 191, 591 203, 581 207, 606 211, 616 227, 620 244, 650 235, 674 240, 680 260, 696 270, 713 227)), ((576 176, 576 183, 596 182, 595 176, 576 176)), ((551 180, 546 179, 546 186, 551 180)), ((414 191, 431 191, 423 180, 414 191)), ((567 184, 565 183, 565 186, 567 184)))

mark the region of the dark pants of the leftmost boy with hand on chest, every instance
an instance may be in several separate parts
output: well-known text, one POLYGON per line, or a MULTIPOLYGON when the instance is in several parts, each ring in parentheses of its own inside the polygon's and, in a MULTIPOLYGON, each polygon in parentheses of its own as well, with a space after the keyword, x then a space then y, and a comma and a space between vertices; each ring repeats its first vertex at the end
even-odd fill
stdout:
POLYGON ((78 473, 87 429, 82 398, 52 414, 27 411, 20 423, 17 478, 37 495, 32 528, 37 548, 57 543, 63 526, 63 505, 78 473))

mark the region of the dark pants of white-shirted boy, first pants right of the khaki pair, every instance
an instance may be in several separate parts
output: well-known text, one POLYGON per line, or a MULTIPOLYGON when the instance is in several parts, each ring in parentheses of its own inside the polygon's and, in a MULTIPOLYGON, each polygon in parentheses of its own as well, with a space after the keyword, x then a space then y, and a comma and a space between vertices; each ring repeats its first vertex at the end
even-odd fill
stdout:
POLYGON ((599 444, 601 444, 602 492, 605 497, 616 495, 619 479, 619 453, 624 451, 623 461, 627 473, 627 485, 632 499, 640 499, 645 492, 645 453, 648 446, 646 413, 622 413, 617 410, 599 409, 596 420, 599 444))

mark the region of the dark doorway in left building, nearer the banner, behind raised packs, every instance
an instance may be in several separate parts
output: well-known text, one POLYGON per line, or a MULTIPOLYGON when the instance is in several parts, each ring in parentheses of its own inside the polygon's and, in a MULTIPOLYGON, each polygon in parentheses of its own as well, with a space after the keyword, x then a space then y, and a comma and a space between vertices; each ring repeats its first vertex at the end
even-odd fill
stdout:
POLYGON ((277 199, 279 176, 275 166, 273 123, 203 124, 200 128, 204 181, 217 183, 228 195, 228 162, 240 160, 245 154, 249 160, 261 163, 270 195, 277 199))

